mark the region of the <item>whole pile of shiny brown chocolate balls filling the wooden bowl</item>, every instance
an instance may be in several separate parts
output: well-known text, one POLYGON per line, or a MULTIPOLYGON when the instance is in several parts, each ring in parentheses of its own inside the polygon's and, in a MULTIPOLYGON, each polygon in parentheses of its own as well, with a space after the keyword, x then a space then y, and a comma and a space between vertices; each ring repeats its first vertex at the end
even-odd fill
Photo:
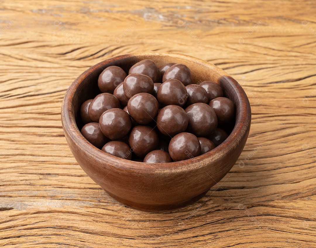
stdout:
POLYGON ((184 64, 159 69, 145 59, 128 75, 109 66, 98 87, 102 93, 80 108, 81 133, 95 147, 123 159, 168 163, 194 158, 222 143, 234 127, 234 103, 220 85, 193 84, 184 64))

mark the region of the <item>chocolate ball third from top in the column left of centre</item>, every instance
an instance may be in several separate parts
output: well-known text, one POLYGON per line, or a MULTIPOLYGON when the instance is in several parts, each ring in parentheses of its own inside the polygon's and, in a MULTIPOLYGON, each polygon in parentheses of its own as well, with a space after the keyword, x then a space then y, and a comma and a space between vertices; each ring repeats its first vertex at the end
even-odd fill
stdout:
POLYGON ((134 95, 127 103, 131 117, 139 124, 149 124, 158 113, 157 99, 148 93, 134 95))

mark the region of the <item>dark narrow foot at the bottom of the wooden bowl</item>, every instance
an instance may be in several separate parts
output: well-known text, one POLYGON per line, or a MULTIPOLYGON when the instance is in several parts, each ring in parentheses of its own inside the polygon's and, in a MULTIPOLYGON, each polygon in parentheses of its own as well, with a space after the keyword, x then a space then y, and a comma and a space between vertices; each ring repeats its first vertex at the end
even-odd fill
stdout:
MULTIPOLYGON (((103 189, 104 190, 104 189, 103 189)), ((181 203, 172 203, 172 204, 161 204, 161 205, 152 205, 152 204, 140 204, 140 203, 135 203, 131 201, 127 201, 125 199, 122 199, 118 196, 113 195, 112 193, 104 190, 106 194, 108 194, 110 197, 112 197, 114 200, 118 201, 119 203, 122 203, 126 207, 132 208, 132 209, 137 209, 145 212, 163 212, 163 211, 168 211, 168 210, 173 210, 173 209, 178 209, 185 207, 187 205, 190 205, 192 203, 197 202, 199 199, 204 197, 204 195, 209 191, 204 191, 203 193, 197 195, 196 197, 191 198, 190 200, 187 200, 185 202, 181 203)))

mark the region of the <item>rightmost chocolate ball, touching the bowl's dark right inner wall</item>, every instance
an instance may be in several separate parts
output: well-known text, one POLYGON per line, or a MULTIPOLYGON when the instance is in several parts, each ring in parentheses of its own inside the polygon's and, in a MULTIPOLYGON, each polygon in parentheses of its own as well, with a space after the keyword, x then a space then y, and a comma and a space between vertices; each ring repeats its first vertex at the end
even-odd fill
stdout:
POLYGON ((215 111, 219 125, 228 124, 235 116, 234 103, 226 97, 216 97, 209 105, 215 111))

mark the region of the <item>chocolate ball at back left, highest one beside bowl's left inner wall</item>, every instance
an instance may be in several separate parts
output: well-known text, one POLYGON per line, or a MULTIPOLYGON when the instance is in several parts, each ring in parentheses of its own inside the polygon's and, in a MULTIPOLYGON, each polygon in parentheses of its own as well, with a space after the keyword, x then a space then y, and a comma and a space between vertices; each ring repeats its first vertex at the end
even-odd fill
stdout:
POLYGON ((101 72, 98 78, 100 91, 113 94, 114 89, 124 81, 126 76, 125 71, 118 66, 112 65, 107 67, 101 72))

